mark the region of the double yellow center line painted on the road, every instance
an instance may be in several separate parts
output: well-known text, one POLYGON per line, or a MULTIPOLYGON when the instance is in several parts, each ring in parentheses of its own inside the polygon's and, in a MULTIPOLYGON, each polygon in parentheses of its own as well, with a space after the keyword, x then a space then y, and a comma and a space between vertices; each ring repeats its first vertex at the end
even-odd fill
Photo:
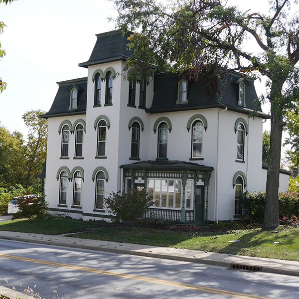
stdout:
POLYGON ((176 283, 176 282, 160 280, 160 279, 155 279, 155 278, 149 278, 149 277, 143 277, 143 276, 137 276, 137 275, 131 275, 131 274, 124 274, 124 273, 119 273, 119 272, 106 271, 106 270, 100 270, 100 269, 88 268, 88 267, 82 267, 82 266, 61 264, 61 263, 50 262, 50 261, 36 260, 36 259, 30 259, 30 258, 24 258, 24 257, 18 257, 18 256, 6 255, 6 254, 0 254, 0 257, 20 260, 20 261, 25 261, 25 262, 31 262, 31 263, 51 265, 51 266, 56 266, 56 267, 75 269, 75 270, 80 270, 80 271, 88 271, 88 272, 101 273, 101 274, 106 274, 106 275, 119 276, 119 277, 124 277, 124 278, 136 279, 136 280, 140 280, 140 281, 152 282, 152 283, 156 283, 156 284, 163 284, 163 285, 175 286, 175 287, 180 287, 180 288, 199 290, 199 291, 203 291, 203 292, 222 294, 222 295, 233 296, 233 297, 238 297, 238 298, 271 299, 268 297, 260 297, 260 296, 249 295, 249 294, 235 293, 235 292, 229 292, 229 291, 220 290, 220 289, 200 287, 200 286, 176 283))

